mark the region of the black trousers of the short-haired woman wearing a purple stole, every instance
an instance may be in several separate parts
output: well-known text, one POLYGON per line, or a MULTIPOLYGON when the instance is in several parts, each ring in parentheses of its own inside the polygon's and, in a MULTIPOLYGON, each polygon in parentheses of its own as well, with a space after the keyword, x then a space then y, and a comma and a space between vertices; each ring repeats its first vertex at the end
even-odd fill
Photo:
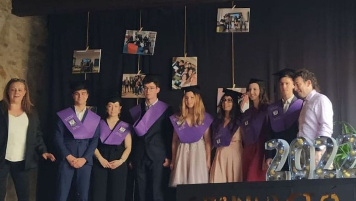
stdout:
MULTIPOLYGON (((96 159, 94 159, 96 160, 96 159)), ((93 164, 91 187, 93 201, 124 201, 126 193, 126 162, 114 170, 103 168, 98 161, 93 164)))

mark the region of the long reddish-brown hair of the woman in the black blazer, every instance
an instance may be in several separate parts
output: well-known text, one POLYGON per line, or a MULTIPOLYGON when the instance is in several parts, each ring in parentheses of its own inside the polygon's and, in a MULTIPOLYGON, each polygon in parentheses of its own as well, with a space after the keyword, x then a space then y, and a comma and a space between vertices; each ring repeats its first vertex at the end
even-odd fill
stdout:
POLYGON ((26 94, 22 98, 21 109, 23 111, 25 111, 27 114, 29 114, 29 113, 32 112, 33 104, 32 104, 32 102, 30 100, 30 91, 28 90, 28 86, 27 86, 26 81, 24 79, 12 78, 10 81, 7 82, 7 84, 5 86, 5 89, 4 89, 4 92, 3 92, 3 98, 2 98, 2 100, 4 100, 4 102, 5 102, 4 107, 7 110, 10 109, 9 89, 10 89, 10 85, 12 83, 16 83, 16 82, 22 83, 25 86, 26 94))

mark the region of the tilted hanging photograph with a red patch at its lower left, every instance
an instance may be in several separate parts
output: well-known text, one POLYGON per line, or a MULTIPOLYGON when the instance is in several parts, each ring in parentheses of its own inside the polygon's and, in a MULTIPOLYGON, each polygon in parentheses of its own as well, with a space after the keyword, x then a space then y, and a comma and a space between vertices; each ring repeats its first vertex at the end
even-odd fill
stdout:
POLYGON ((123 53, 153 55, 157 32, 126 30, 123 53))

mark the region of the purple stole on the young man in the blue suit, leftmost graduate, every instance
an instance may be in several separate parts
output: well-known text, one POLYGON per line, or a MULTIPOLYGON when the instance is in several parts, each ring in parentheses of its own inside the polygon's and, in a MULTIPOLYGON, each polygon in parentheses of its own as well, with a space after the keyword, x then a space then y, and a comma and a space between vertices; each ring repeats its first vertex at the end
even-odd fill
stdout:
POLYGON ((71 107, 57 112, 57 115, 67 127, 68 131, 73 134, 74 139, 92 138, 100 121, 100 116, 88 110, 87 116, 85 116, 84 122, 82 123, 71 107))

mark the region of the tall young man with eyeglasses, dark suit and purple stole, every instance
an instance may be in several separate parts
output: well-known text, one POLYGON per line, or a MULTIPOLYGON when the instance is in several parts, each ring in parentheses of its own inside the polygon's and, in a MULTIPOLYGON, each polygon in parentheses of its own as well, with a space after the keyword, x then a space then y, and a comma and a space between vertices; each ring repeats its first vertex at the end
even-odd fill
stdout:
POLYGON ((160 91, 157 76, 147 75, 143 79, 145 101, 130 109, 135 122, 132 143, 132 166, 140 201, 163 201, 164 168, 171 163, 173 128, 169 122, 172 109, 159 101, 160 91))

